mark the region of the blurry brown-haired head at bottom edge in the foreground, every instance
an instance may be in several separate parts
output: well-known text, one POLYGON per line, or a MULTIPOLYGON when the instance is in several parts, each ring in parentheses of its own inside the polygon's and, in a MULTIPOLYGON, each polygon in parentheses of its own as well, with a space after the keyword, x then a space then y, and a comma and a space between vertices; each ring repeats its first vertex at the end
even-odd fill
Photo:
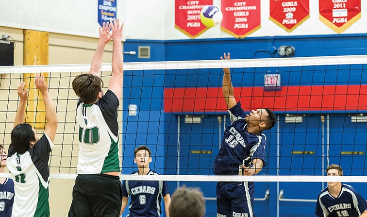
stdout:
POLYGON ((205 200, 197 188, 180 187, 173 193, 169 205, 170 217, 203 217, 205 200))

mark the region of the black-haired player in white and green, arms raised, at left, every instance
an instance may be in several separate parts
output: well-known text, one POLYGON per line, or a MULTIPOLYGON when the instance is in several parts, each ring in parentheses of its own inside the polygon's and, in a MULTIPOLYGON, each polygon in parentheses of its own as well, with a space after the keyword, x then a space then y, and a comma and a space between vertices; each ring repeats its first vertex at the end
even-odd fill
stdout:
POLYGON ((36 88, 45 102, 47 125, 40 138, 34 128, 24 122, 28 91, 25 83, 18 86, 19 105, 11 133, 7 165, 15 181, 12 217, 49 217, 49 157, 53 148, 58 120, 44 77, 36 74, 36 88))

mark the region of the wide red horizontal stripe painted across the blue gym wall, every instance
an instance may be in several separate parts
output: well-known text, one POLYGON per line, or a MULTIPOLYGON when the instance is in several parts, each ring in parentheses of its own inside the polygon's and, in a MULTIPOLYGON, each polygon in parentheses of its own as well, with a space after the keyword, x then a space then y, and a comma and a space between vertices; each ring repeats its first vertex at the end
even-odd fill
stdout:
MULTIPOLYGON (((245 111, 270 108, 274 111, 363 111, 367 110, 367 85, 235 87, 234 94, 245 111)), ((165 112, 223 112, 222 88, 165 88, 165 112)))

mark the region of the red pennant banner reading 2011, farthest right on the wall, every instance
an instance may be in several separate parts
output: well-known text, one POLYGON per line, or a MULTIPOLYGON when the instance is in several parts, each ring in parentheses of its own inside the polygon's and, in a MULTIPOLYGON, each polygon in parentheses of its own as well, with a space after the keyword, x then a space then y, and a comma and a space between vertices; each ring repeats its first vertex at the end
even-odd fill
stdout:
POLYGON ((361 18, 361 0, 319 0, 320 20, 342 33, 361 18))

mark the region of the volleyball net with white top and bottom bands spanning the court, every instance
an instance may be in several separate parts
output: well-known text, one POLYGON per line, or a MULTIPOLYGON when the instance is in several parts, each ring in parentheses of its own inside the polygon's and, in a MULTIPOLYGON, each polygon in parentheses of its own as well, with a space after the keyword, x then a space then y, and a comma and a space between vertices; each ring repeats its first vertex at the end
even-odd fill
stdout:
MULTIPOLYGON (((150 169, 167 181, 367 182, 367 56, 124 63, 118 110, 121 179, 137 170, 134 149, 152 151, 150 169), (212 164, 231 121, 223 99, 223 67, 245 112, 269 108, 277 117, 265 131, 266 160, 253 177, 216 176, 212 164), (338 164, 343 177, 326 177, 338 164)), ((78 98, 71 83, 86 65, 0 67, 0 141, 8 149, 17 112, 17 86, 30 90, 26 122, 42 133, 46 118, 34 88, 44 73, 59 125, 50 156, 51 178, 75 178, 78 98)), ((111 64, 102 65, 107 89, 111 64)))

